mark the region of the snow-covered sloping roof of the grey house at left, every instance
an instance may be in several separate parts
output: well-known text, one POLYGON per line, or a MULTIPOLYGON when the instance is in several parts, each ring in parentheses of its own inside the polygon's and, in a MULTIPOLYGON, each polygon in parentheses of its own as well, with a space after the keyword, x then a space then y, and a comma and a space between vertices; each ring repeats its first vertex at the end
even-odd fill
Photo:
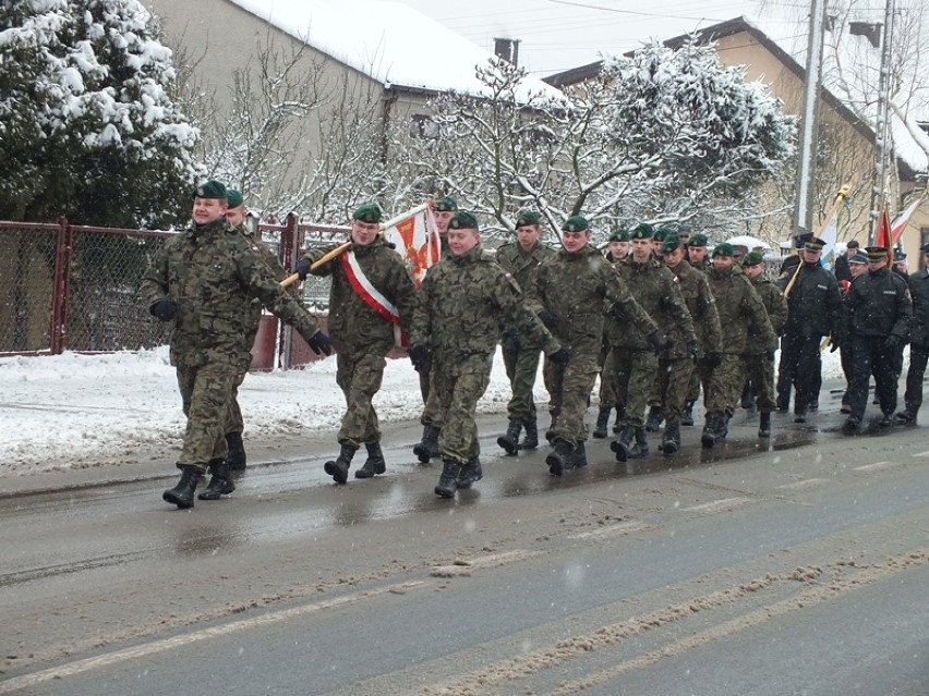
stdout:
MULTIPOLYGON (((475 75, 494 54, 402 2, 386 0, 231 0, 309 46, 383 84, 479 95, 475 75)), ((563 95, 527 76, 520 96, 563 95)))

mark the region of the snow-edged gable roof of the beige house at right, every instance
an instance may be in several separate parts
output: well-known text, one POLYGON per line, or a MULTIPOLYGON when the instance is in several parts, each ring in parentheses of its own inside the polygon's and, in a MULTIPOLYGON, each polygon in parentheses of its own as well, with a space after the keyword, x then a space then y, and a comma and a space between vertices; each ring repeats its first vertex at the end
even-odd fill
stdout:
MULTIPOLYGON (((716 39, 747 32, 764 46, 773 56, 780 60, 785 68, 796 74, 800 80, 805 80, 806 70, 797 61, 794 56, 768 36, 753 20, 748 20, 745 16, 735 17, 726 22, 721 22, 693 34, 685 34, 676 36, 664 41, 665 46, 671 48, 679 48, 685 41, 696 37, 699 42, 710 42, 716 39)), ((806 50, 806 47, 804 47, 806 50)), ((579 68, 574 68, 545 78, 551 85, 566 86, 576 84, 583 80, 589 80, 600 73, 603 68, 603 61, 596 61, 579 68)), ((842 99, 840 99, 828 86, 822 89, 823 100, 836 112, 842 114, 855 129, 857 129, 865 137, 870 141, 874 139, 873 129, 861 118, 859 118, 842 99)), ((901 167, 901 175, 904 179, 913 180, 917 172, 929 170, 929 135, 919 127, 915 120, 906 120, 897 114, 891 113, 891 138, 894 144, 894 151, 897 156, 897 163, 901 167), (912 122, 910 122, 912 121, 912 122)))

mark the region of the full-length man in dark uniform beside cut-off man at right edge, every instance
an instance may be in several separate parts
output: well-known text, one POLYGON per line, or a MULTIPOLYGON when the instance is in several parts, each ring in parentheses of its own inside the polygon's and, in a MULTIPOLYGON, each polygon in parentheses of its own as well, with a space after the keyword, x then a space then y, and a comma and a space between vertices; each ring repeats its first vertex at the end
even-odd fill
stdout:
POLYGON ((906 342, 913 303, 906 282, 888 268, 888 248, 869 246, 868 272, 848 289, 848 328, 852 341, 852 381, 848 405, 852 413, 842 432, 854 435, 861 425, 868 403, 868 380, 874 375, 874 390, 881 405, 881 427, 891 425, 896 410, 894 355, 906 342))

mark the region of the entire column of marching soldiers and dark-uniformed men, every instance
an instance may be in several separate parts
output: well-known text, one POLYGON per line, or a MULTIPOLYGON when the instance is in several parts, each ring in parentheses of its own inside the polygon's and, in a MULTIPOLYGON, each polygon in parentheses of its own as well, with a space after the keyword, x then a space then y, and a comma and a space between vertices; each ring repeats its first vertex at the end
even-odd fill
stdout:
MULTIPOLYGON (((419 288, 381 233, 376 204, 354 210, 347 243, 312 248, 297 262, 300 279, 331 279, 327 335, 281 282, 288 273, 275 255, 243 224, 241 194, 216 181, 194 191, 191 225, 157 253, 142 290, 152 315, 173 322, 171 364, 188 419, 181 477, 165 501, 186 509, 194 498, 234 490, 231 472, 245 466, 237 391, 262 306, 317 354, 336 351, 346 411, 339 453, 324 466, 340 485, 362 444, 366 459, 354 477, 386 472, 373 401, 387 354, 402 343, 423 399, 413 454, 422 464, 442 463, 442 498, 483 475, 475 413, 498 344, 512 396, 497 443, 508 455, 539 447, 533 391, 544 361, 552 476, 588 464, 586 415, 594 400, 592 437, 607 437, 615 413, 610 447, 618 462, 650 454, 647 432, 663 430, 662 453, 677 452, 701 393, 704 448, 726 438, 739 405, 757 410, 759 438, 771 437, 771 414, 792 402, 794 420, 805 423, 819 407, 827 347, 841 352, 847 379, 844 434, 861 428, 872 378, 879 427, 916 424, 929 359, 929 273, 907 274, 905 257, 892 258, 888 248, 862 251, 849 241, 833 272, 821 262, 824 242, 797 235, 796 254, 772 281, 761 254, 743 255, 725 242, 711 248, 686 225, 615 227, 601 251, 588 220, 574 216, 554 248, 542 242, 540 215, 521 210, 514 241, 494 252, 482 245, 475 216, 454 198, 436 198, 432 208, 442 258, 419 288), (907 343, 904 408, 896 412, 907 343)), ((929 245, 921 251, 929 261, 929 245)))

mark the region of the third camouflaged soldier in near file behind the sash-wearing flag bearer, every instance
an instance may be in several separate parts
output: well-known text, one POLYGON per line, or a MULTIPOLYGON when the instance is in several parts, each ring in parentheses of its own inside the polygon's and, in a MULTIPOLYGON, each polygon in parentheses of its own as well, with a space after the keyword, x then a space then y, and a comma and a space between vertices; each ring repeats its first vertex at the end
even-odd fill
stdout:
MULTIPOLYGON (((666 367, 683 367, 681 359, 692 359, 691 355, 697 353, 693 322, 674 282, 674 273, 652 253, 654 229, 640 222, 629 230, 629 237, 631 254, 619 264, 619 277, 639 306, 657 325, 660 339, 657 343, 650 341, 650 332, 635 326, 614 322, 610 327, 610 350, 618 366, 617 391, 626 404, 619 439, 611 444, 619 462, 649 453, 643 416, 657 378, 659 357, 665 359, 666 367)), ((691 366, 692 363, 688 367, 691 366)), ((669 423, 679 423, 677 413, 668 416, 669 423)), ((676 442, 679 445, 679 434, 676 442)))

